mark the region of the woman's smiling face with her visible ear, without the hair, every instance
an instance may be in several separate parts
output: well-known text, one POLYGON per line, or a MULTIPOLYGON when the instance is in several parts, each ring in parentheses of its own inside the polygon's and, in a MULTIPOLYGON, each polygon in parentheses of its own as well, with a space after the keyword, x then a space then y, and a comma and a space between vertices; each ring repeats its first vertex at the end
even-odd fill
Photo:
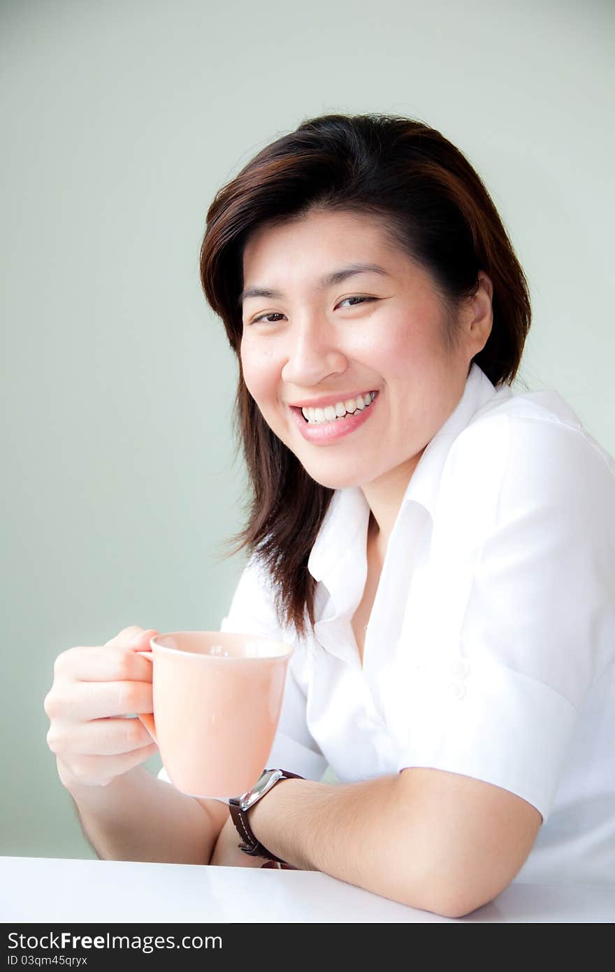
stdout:
POLYGON ((459 347, 448 350, 430 276, 392 247, 373 217, 313 212, 261 226, 243 271, 244 379, 274 434, 331 489, 385 476, 409 481, 489 337, 489 277, 481 273, 479 294, 460 317, 459 347), (359 263, 381 271, 342 274, 359 263), (255 290, 268 293, 246 294, 255 290), (323 424, 306 422, 300 406, 328 402, 335 417, 316 413, 323 424))

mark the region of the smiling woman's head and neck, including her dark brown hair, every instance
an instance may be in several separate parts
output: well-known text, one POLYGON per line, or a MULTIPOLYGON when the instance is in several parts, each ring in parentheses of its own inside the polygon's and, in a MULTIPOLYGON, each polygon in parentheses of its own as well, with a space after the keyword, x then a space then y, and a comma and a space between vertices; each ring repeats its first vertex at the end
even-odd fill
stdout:
POLYGON ((258 549, 280 620, 301 636, 334 490, 374 483, 384 552, 470 364, 494 386, 514 380, 527 281, 459 149, 422 121, 378 115, 310 119, 262 149, 210 206, 201 281, 239 360, 235 421, 255 487, 230 554, 258 549), (346 419, 344 434, 290 408, 371 392, 372 415, 346 419))

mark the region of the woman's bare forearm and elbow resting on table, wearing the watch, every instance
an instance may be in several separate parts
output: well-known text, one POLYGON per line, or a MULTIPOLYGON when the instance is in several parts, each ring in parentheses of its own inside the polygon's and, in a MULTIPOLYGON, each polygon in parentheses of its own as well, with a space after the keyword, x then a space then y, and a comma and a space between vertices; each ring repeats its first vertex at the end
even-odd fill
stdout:
POLYGON ((541 822, 499 786, 417 767, 356 783, 287 780, 250 811, 256 838, 295 867, 449 918, 510 884, 541 822))

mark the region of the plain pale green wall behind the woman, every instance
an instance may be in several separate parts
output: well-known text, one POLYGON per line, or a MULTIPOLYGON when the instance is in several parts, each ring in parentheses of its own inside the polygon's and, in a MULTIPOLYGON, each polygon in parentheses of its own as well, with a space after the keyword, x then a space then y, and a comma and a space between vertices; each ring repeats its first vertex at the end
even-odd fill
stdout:
MULTIPOLYGON (((236 364, 199 289, 214 193, 325 112, 439 128, 529 281, 521 375, 615 453, 608 0, 0 5, 0 853, 94 856, 47 747, 53 661, 217 627, 243 559, 236 364)), ((158 769, 159 760, 147 764, 158 769)))

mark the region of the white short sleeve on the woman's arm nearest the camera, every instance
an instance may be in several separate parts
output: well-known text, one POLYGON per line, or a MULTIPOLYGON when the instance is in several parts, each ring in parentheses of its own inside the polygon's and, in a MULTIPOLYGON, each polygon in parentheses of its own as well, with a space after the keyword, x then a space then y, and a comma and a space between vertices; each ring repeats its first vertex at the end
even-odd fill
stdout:
POLYGON ((443 515, 463 539, 432 577, 440 615, 408 672, 398 770, 494 783, 546 821, 584 699, 615 664, 609 458, 564 424, 518 416, 460 443, 443 515))

